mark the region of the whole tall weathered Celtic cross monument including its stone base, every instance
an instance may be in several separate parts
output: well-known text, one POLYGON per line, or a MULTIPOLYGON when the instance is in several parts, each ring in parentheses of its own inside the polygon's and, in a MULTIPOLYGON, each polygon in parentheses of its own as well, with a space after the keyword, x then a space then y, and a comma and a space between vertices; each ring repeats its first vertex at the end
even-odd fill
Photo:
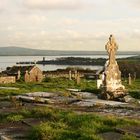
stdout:
POLYGON ((122 85, 121 72, 115 58, 118 46, 113 35, 110 35, 105 48, 109 55, 109 60, 105 64, 101 98, 118 100, 126 95, 126 90, 122 85))

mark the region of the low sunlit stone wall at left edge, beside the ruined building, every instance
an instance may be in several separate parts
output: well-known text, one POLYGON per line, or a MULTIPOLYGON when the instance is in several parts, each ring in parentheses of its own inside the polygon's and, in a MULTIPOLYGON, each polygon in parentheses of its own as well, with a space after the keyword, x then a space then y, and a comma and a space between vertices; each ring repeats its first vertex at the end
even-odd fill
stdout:
POLYGON ((15 83, 16 77, 15 76, 1 76, 0 77, 0 84, 8 84, 8 83, 15 83))

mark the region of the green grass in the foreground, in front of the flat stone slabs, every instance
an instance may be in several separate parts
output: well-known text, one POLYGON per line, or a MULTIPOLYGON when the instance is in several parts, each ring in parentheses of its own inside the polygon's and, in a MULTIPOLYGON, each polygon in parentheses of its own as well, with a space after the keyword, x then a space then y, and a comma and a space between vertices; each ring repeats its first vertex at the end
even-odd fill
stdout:
MULTIPOLYGON (((22 109, 18 113, 0 115, 0 122, 16 122, 25 118, 42 119, 42 123, 33 127, 30 140, 102 140, 101 133, 115 132, 116 127, 140 126, 140 120, 129 120, 114 116, 97 114, 76 114, 48 107, 22 109)), ((137 140, 135 136, 124 135, 122 140, 137 140)))

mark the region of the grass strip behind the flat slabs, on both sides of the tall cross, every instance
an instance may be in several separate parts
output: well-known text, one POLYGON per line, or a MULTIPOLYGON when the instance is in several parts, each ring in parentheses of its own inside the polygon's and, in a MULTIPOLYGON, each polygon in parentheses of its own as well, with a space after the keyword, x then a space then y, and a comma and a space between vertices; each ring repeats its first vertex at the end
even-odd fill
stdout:
MULTIPOLYGON (((132 97, 140 99, 140 79, 132 81, 132 85, 128 85, 127 80, 123 80, 123 84, 132 97)), ((0 89, 0 96, 17 95, 37 91, 65 93, 67 88, 78 88, 82 89, 83 91, 89 91, 97 94, 100 93, 100 90, 97 90, 96 88, 96 80, 85 79, 81 79, 81 83, 79 85, 77 85, 73 80, 70 81, 65 78, 56 78, 46 79, 45 82, 42 83, 17 82, 15 84, 2 84, 0 86, 19 88, 19 90, 0 89)))

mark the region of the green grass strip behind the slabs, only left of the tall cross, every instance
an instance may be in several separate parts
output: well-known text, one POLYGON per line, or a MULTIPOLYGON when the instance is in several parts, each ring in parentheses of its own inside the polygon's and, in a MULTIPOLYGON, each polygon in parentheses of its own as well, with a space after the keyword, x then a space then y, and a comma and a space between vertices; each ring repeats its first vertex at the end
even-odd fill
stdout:
POLYGON ((66 78, 54 78, 48 79, 47 82, 42 83, 17 82, 15 84, 1 84, 0 86, 19 88, 19 90, 0 89, 0 96, 10 96, 37 91, 64 93, 66 92, 67 88, 78 88, 82 90, 94 91, 96 88, 96 81, 87 81, 82 79, 81 83, 77 85, 73 80, 70 81, 66 78))

